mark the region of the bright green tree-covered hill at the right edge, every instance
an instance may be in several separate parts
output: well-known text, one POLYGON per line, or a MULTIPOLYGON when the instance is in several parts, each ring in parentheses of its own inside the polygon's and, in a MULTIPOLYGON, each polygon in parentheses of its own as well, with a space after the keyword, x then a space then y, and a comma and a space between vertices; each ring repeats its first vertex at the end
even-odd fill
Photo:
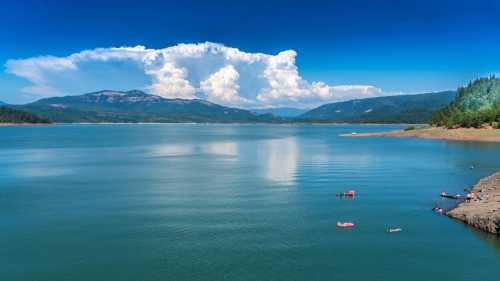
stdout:
POLYGON ((447 128, 479 128, 486 123, 499 128, 500 78, 481 78, 459 88, 455 100, 437 111, 430 123, 447 128))

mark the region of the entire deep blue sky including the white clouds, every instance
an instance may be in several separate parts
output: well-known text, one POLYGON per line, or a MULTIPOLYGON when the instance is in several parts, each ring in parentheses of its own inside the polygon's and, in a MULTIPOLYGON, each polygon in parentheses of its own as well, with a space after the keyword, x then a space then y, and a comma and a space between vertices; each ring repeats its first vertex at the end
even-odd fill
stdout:
POLYGON ((454 89, 500 66, 500 1, 19 2, 0 11, 0 100, 11 103, 139 88, 242 107, 308 107, 454 89), (214 44, 195 45, 204 42, 214 44), (180 43, 203 55, 179 54, 180 43), (61 61, 29 60, 135 46, 146 50, 140 58, 114 50, 118 58, 79 56, 57 70, 61 61), (238 57, 226 59, 234 50, 238 57), (265 56, 248 58, 256 53, 265 56))

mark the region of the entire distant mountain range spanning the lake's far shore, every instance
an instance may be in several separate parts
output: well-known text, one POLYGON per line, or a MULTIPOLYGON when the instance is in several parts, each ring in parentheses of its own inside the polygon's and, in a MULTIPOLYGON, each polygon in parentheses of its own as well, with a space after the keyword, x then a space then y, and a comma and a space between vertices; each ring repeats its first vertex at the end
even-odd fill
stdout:
POLYGON ((454 91, 399 95, 325 104, 303 109, 238 109, 200 99, 167 99, 142 91, 104 90, 8 105, 52 122, 198 122, 198 123, 423 123, 448 105, 454 91))

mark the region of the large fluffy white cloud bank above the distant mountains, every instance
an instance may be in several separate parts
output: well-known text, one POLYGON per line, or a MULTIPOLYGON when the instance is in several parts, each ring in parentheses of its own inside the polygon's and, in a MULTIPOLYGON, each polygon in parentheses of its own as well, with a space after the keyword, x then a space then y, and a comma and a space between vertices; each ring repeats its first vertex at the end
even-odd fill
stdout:
POLYGON ((151 81, 143 88, 166 98, 206 98, 242 107, 304 107, 384 95, 381 89, 369 85, 330 86, 320 81, 306 81, 299 74, 296 56, 293 50, 276 55, 247 53, 206 42, 164 49, 98 48, 67 57, 9 60, 6 69, 32 83, 22 89, 23 92, 44 96, 66 93, 60 85, 60 77, 78 72, 85 63, 121 61, 138 65, 151 81))

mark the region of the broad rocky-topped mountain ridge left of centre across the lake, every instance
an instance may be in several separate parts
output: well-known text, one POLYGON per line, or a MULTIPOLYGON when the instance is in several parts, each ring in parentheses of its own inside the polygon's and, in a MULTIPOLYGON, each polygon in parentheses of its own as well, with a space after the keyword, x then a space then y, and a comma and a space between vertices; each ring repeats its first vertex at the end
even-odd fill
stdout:
POLYGON ((104 90, 52 97, 16 106, 53 122, 280 122, 269 114, 225 107, 205 100, 166 99, 142 91, 104 90))

